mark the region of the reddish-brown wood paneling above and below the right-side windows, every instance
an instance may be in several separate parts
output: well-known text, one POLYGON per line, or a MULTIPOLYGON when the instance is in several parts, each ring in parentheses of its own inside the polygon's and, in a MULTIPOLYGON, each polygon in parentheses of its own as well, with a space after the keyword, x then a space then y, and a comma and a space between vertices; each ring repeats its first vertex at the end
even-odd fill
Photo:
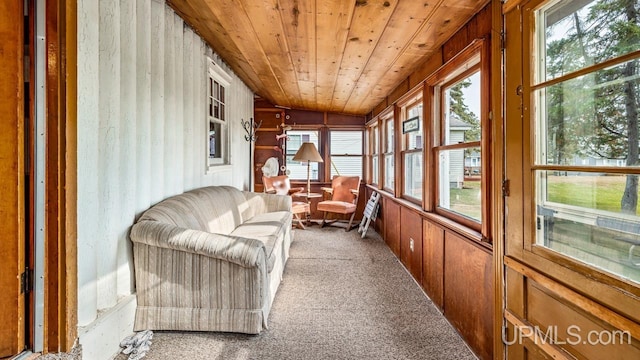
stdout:
MULTIPOLYGON (((474 39, 491 41, 491 6, 477 13, 436 55, 389 94, 367 116, 382 113, 464 49, 474 39)), ((376 190, 369 189, 367 192, 376 190)), ((376 229, 407 271, 422 285, 481 359, 494 354, 493 253, 455 223, 382 192, 376 229), (413 240, 413 246, 411 242, 413 240)))

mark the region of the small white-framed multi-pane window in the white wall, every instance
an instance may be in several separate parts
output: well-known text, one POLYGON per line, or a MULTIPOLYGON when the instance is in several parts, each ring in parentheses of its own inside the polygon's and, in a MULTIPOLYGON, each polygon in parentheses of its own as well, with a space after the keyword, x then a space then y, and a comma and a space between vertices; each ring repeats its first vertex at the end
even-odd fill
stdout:
POLYGON ((207 71, 207 166, 228 164, 229 131, 226 93, 230 76, 208 58, 207 71))

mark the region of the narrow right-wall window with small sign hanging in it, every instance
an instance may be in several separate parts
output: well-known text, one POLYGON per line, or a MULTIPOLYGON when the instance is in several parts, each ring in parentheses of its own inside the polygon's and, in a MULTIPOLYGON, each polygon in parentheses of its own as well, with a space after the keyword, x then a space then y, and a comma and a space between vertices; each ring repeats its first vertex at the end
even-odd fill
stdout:
POLYGON ((422 200, 422 89, 402 106, 402 161, 404 166, 403 196, 422 200), (414 125, 416 124, 416 125, 414 125))

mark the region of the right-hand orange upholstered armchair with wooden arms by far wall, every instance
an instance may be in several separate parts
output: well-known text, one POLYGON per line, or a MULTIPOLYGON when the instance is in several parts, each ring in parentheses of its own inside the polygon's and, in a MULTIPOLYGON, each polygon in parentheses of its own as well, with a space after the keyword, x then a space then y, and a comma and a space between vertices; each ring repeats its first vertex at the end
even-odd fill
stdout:
POLYGON ((353 218, 356 215, 356 207, 358 205, 358 194, 360 189, 359 176, 334 176, 331 180, 331 188, 322 188, 328 200, 318 203, 318 211, 324 212, 322 218, 322 226, 331 224, 339 219, 327 221, 327 214, 335 213, 340 215, 349 215, 349 224, 345 231, 349 231, 353 226, 353 218))

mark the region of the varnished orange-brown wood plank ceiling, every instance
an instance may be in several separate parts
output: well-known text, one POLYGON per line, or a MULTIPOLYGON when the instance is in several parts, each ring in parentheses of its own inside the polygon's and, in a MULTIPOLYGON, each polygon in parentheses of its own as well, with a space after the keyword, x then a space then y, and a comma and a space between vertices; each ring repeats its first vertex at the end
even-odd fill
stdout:
POLYGON ((168 0, 260 97, 366 114, 488 0, 168 0))

